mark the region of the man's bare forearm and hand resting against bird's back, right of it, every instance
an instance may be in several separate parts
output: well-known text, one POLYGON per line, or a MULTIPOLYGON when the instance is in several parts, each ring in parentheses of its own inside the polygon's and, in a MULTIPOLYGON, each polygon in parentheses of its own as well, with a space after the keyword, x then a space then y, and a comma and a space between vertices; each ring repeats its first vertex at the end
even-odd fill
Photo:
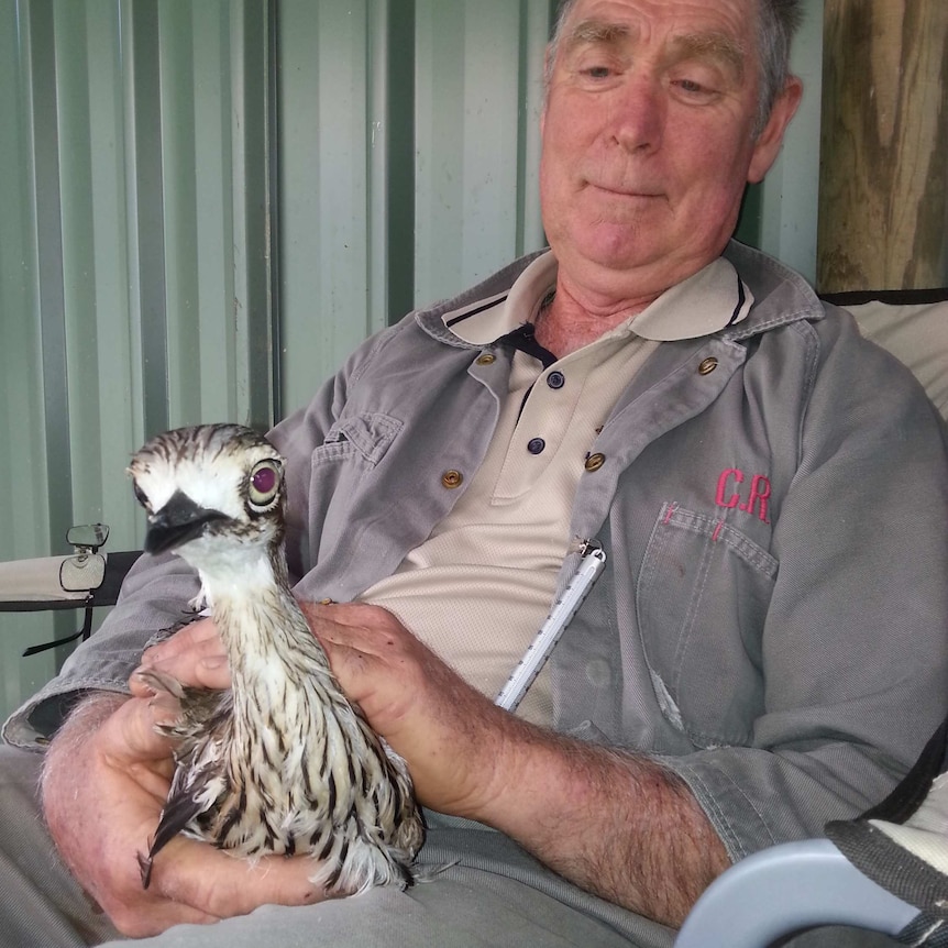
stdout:
POLYGON ((493 826, 583 889, 665 924, 681 924, 728 866, 694 796, 648 758, 501 710, 385 609, 304 611, 426 805, 493 826))

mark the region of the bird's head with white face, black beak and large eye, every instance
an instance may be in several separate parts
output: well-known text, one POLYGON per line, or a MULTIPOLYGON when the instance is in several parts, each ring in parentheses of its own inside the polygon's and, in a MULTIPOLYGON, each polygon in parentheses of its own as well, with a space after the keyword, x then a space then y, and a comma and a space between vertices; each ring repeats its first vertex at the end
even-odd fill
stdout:
POLYGON ((132 456, 135 497, 147 510, 145 550, 175 550, 192 565, 221 549, 273 548, 284 536, 285 461, 239 425, 158 434, 132 456))

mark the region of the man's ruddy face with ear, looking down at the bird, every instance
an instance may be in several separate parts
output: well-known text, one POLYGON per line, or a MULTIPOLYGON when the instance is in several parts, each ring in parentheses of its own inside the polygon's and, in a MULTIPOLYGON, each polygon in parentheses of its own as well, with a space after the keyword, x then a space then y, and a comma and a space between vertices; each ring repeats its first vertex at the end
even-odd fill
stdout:
POLYGON ((757 0, 578 0, 542 120, 561 273, 605 297, 660 293, 720 253, 798 100, 753 139, 757 25, 757 0))

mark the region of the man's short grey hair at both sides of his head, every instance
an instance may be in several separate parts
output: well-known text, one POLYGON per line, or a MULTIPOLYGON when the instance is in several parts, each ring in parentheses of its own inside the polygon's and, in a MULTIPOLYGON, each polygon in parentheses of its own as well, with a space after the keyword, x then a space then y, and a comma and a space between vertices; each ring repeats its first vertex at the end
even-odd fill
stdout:
MULTIPOLYGON (((576 0, 560 0, 550 45, 547 48, 544 81, 548 89, 553 78, 553 66, 563 35, 563 25, 575 4, 576 0)), ((783 91, 790 77, 790 45, 794 33, 800 29, 803 21, 802 5, 801 0, 758 0, 760 11, 758 57, 761 80, 754 137, 767 125, 773 103, 783 91)))

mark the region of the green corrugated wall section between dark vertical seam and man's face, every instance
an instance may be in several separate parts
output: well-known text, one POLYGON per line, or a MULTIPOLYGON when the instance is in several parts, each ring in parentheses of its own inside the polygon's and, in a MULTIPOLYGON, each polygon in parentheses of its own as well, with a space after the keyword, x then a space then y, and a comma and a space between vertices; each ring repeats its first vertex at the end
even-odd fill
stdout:
POLYGON ((386 319, 542 245, 550 7, 279 3, 286 410, 386 319))

